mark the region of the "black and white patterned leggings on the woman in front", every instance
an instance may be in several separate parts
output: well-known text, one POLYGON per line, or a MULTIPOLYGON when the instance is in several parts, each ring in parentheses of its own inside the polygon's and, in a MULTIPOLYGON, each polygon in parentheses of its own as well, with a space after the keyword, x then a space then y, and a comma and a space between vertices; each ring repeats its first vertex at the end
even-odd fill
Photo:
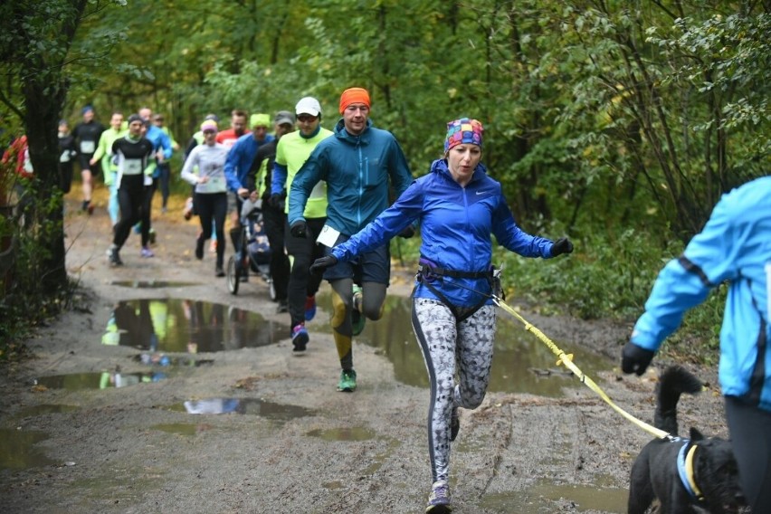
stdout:
POLYGON ((413 329, 431 389, 428 451, 433 481, 449 479, 452 407, 475 409, 484 400, 490 382, 495 315, 495 306, 485 305, 458 322, 441 301, 413 299, 413 329))

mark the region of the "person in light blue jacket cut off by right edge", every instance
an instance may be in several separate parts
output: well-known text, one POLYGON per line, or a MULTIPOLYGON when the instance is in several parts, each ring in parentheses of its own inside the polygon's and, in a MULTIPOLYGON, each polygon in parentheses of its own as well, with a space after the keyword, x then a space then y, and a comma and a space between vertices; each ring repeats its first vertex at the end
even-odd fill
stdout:
POLYGON ((701 233, 662 269, 623 347, 624 373, 643 375, 685 311, 728 282, 719 382, 739 481, 753 512, 771 512, 771 176, 723 195, 701 233))

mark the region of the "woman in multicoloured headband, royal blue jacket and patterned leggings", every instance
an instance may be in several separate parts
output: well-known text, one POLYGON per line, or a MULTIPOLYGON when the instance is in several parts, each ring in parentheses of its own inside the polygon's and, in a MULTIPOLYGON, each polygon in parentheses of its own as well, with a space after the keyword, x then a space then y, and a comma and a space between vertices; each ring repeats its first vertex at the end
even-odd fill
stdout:
POLYGON ((339 266, 420 224, 420 266, 413 291, 412 323, 428 369, 431 398, 428 442, 433 476, 426 512, 450 511, 450 443, 460 430, 458 409, 481 405, 490 381, 497 290, 492 241, 524 257, 549 259, 573 252, 523 232, 500 183, 481 164, 482 125, 476 119, 447 124, 444 157, 433 161, 394 205, 311 270, 339 266), (455 384, 455 375, 459 382, 455 384))

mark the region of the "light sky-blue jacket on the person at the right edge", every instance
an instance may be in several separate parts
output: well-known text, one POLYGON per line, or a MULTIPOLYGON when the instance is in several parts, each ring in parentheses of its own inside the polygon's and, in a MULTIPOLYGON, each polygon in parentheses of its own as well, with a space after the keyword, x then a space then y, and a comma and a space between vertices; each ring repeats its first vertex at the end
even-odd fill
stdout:
POLYGON ((632 342, 656 351, 687 309, 728 281, 720 329, 719 381, 723 395, 771 410, 771 176, 723 195, 701 233, 653 284, 632 342), (765 351, 764 351, 764 348, 765 351))

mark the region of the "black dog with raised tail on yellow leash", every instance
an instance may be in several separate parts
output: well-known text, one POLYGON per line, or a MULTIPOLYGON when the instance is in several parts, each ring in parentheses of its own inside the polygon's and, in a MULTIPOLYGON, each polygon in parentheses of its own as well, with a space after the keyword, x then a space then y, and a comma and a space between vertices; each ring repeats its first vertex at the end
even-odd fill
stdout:
POLYGON ((654 498, 661 514, 738 512, 744 496, 731 443, 690 429, 690 440, 677 436, 677 403, 682 393, 699 393, 700 380, 680 366, 667 368, 657 391, 654 424, 671 439, 645 445, 632 466, 629 514, 643 514, 654 498))

